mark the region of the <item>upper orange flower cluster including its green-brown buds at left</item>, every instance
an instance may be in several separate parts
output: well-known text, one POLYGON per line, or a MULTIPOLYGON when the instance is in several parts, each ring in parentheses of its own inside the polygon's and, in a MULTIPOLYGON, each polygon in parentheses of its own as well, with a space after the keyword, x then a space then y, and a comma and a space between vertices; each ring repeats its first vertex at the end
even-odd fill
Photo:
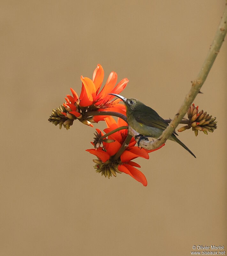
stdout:
POLYGON ((76 119, 83 124, 93 127, 92 122, 97 123, 109 116, 106 113, 95 115, 95 111, 112 111, 126 116, 125 105, 119 103, 120 99, 113 100, 114 96, 109 95, 109 93, 119 94, 125 89, 128 79, 124 78, 116 85, 117 73, 112 71, 106 84, 100 91, 103 78, 104 71, 100 64, 95 69, 92 80, 88 77, 81 76, 82 89, 80 95, 78 96, 70 88, 72 95, 66 95, 66 102, 59 108, 52 110, 52 114, 48 119, 49 122, 52 122, 54 125, 59 124, 60 129, 64 126, 68 130, 76 119))

